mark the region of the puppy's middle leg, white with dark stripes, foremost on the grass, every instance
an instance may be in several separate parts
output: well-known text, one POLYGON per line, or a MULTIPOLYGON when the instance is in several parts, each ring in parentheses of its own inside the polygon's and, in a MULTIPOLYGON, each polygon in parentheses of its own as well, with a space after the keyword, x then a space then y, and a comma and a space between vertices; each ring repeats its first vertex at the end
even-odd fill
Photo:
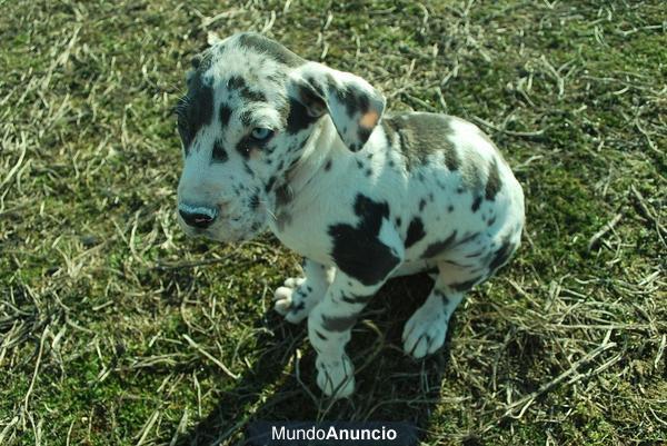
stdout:
POLYGON ((310 311, 308 337, 317 351, 317 384, 326 395, 344 398, 355 390, 355 368, 345 346, 357 317, 388 276, 364 285, 338 269, 325 298, 310 311))

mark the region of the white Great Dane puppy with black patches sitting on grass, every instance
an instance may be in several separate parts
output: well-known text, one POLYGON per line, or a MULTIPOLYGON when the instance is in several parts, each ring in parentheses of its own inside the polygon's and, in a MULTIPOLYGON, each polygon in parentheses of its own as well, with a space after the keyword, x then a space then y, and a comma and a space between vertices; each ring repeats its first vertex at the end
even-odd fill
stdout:
POLYGON ((465 293, 509 260, 524 227, 521 187, 489 138, 450 116, 385 113, 366 80, 256 33, 218 40, 192 67, 177 107, 179 222, 219 241, 268 226, 303 256, 275 308, 308 318, 322 392, 354 392, 345 346, 391 277, 436 271, 402 341, 416 358, 442 346, 465 293))

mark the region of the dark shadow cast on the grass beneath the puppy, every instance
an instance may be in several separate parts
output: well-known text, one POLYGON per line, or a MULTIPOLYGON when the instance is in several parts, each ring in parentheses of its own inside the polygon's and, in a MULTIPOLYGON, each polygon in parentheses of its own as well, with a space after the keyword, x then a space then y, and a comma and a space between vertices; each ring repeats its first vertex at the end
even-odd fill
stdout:
POLYGON ((448 343, 417 361, 402 353, 400 337, 404 324, 424 303, 431 285, 426 275, 394 279, 374 298, 348 345, 357 379, 349 399, 321 395, 315 384, 315 353, 305 339, 305 324, 289 325, 270 310, 258 321, 269 329, 259 330, 257 345, 266 346, 265 354, 177 444, 248 444, 245 430, 253 420, 407 422, 422 437, 438 404, 448 343), (303 350, 302 357, 297 350, 303 350))

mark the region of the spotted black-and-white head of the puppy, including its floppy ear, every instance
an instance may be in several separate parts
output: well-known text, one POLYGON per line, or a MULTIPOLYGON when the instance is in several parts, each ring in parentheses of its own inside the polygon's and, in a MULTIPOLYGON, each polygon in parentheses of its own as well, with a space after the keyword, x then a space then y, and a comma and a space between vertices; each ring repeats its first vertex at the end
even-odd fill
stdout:
POLYGON ((255 33, 192 60, 177 106, 185 167, 178 218, 188 235, 233 241, 265 227, 276 191, 320 119, 360 150, 385 99, 364 79, 308 62, 255 33))

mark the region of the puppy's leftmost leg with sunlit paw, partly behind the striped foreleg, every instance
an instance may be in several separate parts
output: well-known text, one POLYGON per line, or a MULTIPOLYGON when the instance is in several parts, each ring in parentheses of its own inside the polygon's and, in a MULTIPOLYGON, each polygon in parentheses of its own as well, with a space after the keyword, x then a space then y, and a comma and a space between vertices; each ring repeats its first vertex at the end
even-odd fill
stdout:
POLYGON ((273 294, 273 308, 292 324, 303 320, 327 293, 336 268, 303 259, 305 277, 290 277, 273 294))

